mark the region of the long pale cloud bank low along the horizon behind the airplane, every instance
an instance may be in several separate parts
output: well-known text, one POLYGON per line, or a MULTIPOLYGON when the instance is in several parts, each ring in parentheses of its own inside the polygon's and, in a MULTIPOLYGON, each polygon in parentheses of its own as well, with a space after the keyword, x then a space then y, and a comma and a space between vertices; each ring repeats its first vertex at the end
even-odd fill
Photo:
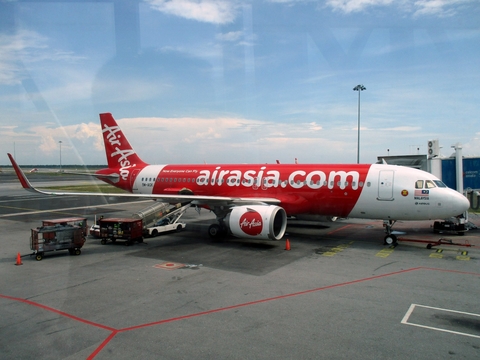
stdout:
MULTIPOLYGON (((272 123, 233 117, 144 117, 117 122, 139 156, 151 164, 273 163, 277 159, 292 163, 295 158, 301 163, 353 163, 356 159, 356 127, 332 127, 329 122, 325 127, 318 122, 272 123)), ((464 155, 480 153, 480 134, 472 135, 464 145, 464 155)), ((391 155, 417 153, 417 148, 425 152, 427 137, 418 126, 362 128, 361 157, 374 162, 387 154, 387 148, 391 155), (385 143, 392 134, 395 142, 385 143)), ((17 154, 29 164, 57 164, 59 140, 63 164, 105 164, 100 125, 93 122, 21 130, 5 126, 0 127, 0 140, 16 142, 17 154)))

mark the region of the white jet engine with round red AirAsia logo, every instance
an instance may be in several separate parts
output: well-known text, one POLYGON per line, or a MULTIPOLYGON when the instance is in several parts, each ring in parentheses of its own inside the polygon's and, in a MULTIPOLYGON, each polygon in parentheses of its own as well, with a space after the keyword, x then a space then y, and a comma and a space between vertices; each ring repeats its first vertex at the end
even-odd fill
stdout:
POLYGON ((274 205, 236 206, 226 219, 234 236, 257 240, 280 240, 287 228, 287 214, 274 205))

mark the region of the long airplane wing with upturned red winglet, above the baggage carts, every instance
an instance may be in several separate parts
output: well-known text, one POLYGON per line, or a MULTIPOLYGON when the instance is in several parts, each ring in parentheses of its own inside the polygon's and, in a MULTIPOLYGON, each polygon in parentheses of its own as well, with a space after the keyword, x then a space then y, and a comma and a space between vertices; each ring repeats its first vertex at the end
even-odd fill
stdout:
POLYGON ((40 190, 34 187, 30 181, 28 181, 25 173, 20 169, 17 162, 11 154, 7 154, 12 163, 13 169, 17 174, 18 179, 22 187, 25 190, 44 195, 55 196, 103 196, 103 197, 125 197, 125 198, 140 198, 140 199, 152 199, 167 202, 171 204, 190 202, 192 205, 198 206, 236 206, 236 205, 256 205, 256 204, 279 204, 281 201, 275 198, 241 198, 241 197, 228 197, 228 196, 198 196, 198 195, 162 195, 162 194, 131 194, 131 193, 96 193, 96 192, 70 192, 70 191, 49 191, 40 190))

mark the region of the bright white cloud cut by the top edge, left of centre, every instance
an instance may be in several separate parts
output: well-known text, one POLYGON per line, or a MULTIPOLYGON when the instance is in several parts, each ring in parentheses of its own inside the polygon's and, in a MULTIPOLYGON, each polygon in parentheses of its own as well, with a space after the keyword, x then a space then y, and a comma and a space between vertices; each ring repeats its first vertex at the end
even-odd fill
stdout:
POLYGON ((150 6, 169 15, 212 24, 228 24, 236 18, 236 3, 226 0, 147 0, 150 6))

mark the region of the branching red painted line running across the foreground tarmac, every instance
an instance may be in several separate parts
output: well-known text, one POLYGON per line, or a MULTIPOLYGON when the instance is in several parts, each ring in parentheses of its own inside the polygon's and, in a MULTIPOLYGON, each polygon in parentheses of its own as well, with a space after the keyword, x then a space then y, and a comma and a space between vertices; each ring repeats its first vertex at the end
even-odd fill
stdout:
MULTIPOLYGON (((347 225, 347 226, 349 226, 349 225, 347 225)), ((270 301, 282 300, 282 299, 287 299, 287 298, 291 298, 291 297, 295 297, 295 296, 311 294, 311 293, 319 292, 319 291, 323 291, 323 290, 335 289, 335 288, 342 287, 342 286, 348 286, 348 285, 358 284, 358 283, 362 283, 362 282, 365 282, 365 281, 382 279, 382 278, 385 278, 385 277, 390 277, 390 276, 399 275, 399 274, 405 274, 405 273, 414 272, 414 271, 419 271, 419 270, 442 271, 442 272, 449 272, 449 273, 461 274, 461 275, 480 276, 479 273, 466 272, 466 271, 458 271, 458 270, 440 269, 440 268, 430 268, 430 267, 420 266, 420 267, 415 267, 415 268, 411 268, 411 269, 394 271, 394 272, 387 273, 387 274, 383 274, 383 275, 376 275, 376 276, 370 276, 370 277, 363 278, 363 279, 357 279, 357 280, 347 281, 347 282, 343 282, 343 283, 339 283, 339 284, 322 286, 322 287, 315 288, 315 289, 298 291, 298 292, 294 292, 294 293, 291 293, 291 294, 274 296, 274 297, 265 298, 265 299, 259 299, 259 300, 255 300, 255 301, 250 301, 250 302, 242 303, 242 304, 237 304, 237 305, 231 305, 231 306, 221 307, 221 308, 217 308, 217 309, 202 311, 202 312, 193 313, 193 314, 188 314, 188 315, 183 315, 183 316, 177 316, 177 317, 170 318, 170 319, 164 319, 164 320, 154 321, 154 322, 151 322, 151 323, 140 324, 140 325, 136 325, 136 326, 130 326, 130 327, 126 327, 126 328, 123 328, 123 329, 114 329, 114 328, 109 327, 109 326, 106 326, 106 325, 101 325, 101 324, 98 324, 98 323, 94 323, 94 322, 92 322, 92 321, 85 320, 85 319, 79 318, 79 317, 77 317, 77 316, 67 314, 67 313, 65 313, 65 312, 63 312, 63 311, 60 311, 60 310, 57 310, 57 309, 51 308, 51 307, 49 307, 49 306, 46 306, 46 305, 42 305, 42 304, 33 302, 33 301, 30 301, 30 300, 21 299, 21 298, 16 298, 16 297, 7 296, 7 295, 2 295, 2 294, 0 294, 0 298, 4 298, 4 299, 8 299, 8 300, 13 300, 13 301, 19 301, 19 302, 22 302, 22 303, 25 303, 25 304, 28 304, 28 305, 36 306, 36 307, 39 307, 39 308, 41 308, 41 309, 54 312, 54 313, 59 314, 59 315, 61 315, 61 316, 65 316, 65 317, 67 317, 67 318, 69 318, 69 319, 76 320, 76 321, 82 322, 82 323, 87 324, 87 325, 92 325, 92 326, 95 326, 95 327, 98 327, 98 328, 101 328, 101 329, 105 329, 105 330, 111 331, 110 335, 108 335, 108 337, 95 349, 95 351, 93 351, 93 352, 90 354, 90 356, 88 356, 87 359, 91 360, 91 359, 95 358, 95 357, 105 348, 105 346, 107 346, 108 343, 109 343, 118 333, 120 333, 120 332, 126 332, 126 331, 131 331, 131 330, 142 329, 142 328, 149 327, 149 326, 161 325, 161 324, 166 324, 166 323, 170 323, 170 322, 174 322, 174 321, 179 321, 179 320, 192 319, 192 318, 199 317, 199 316, 203 316, 203 315, 209 315, 209 314, 214 314, 214 313, 218 313, 218 312, 222 312, 222 311, 228 311, 228 310, 232 310, 232 309, 238 309, 238 308, 241 308, 241 307, 246 307, 246 306, 251 306, 251 305, 257 305, 257 304, 267 303, 267 302, 270 302, 270 301)))

